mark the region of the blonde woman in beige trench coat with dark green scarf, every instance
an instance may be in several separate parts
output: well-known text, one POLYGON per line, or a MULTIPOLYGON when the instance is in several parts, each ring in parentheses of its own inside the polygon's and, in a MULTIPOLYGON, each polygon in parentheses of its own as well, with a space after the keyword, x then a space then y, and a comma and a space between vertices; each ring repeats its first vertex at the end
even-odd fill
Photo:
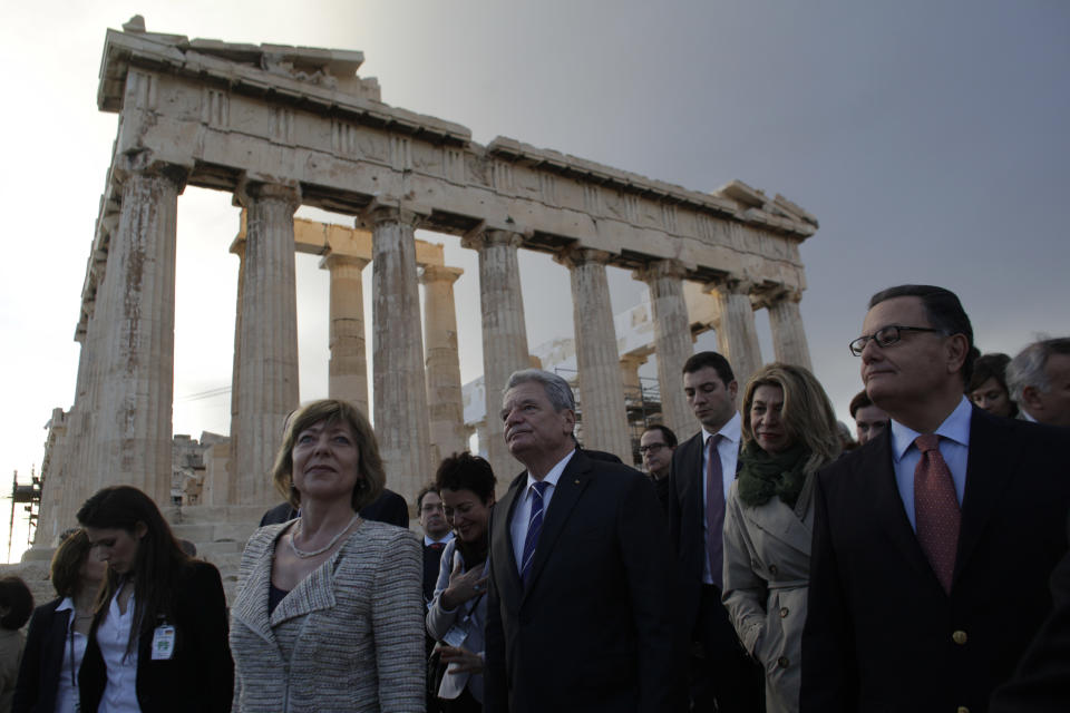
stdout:
POLYGON ((766 711, 799 710, 814 473, 839 453, 825 390, 800 367, 767 364, 743 393, 743 447, 724 508, 723 602, 766 672, 766 711))

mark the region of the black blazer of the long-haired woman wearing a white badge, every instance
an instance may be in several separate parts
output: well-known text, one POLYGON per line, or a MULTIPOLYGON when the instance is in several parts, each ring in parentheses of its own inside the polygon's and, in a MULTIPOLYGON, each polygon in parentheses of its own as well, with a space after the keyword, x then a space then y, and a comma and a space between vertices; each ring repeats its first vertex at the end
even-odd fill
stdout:
MULTIPOLYGON (((107 684, 107 667, 97 644, 97 614, 78 672, 81 710, 94 713, 107 684)), ((234 662, 227 643, 226 598, 220 572, 205 561, 189 563, 175 585, 175 651, 153 661, 153 636, 137 643, 137 702, 144 713, 230 711, 234 662)))

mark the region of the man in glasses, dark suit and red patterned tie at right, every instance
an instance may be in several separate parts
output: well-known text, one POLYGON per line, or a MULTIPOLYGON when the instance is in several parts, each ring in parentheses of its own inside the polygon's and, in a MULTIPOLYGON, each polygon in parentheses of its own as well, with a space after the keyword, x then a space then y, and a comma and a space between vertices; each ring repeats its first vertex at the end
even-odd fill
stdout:
POLYGON ((1068 431, 963 397, 977 352, 947 290, 877 293, 850 351, 892 423, 818 473, 801 711, 982 713, 1051 611, 1068 431))

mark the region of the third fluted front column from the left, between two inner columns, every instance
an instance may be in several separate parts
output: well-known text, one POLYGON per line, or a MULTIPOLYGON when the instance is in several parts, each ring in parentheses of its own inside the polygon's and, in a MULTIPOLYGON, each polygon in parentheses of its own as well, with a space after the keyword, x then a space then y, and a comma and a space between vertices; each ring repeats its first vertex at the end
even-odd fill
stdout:
POLYGON ((416 268, 415 233, 422 215, 410 207, 373 203, 359 218, 371 229, 376 436, 387 482, 408 502, 435 473, 416 268))

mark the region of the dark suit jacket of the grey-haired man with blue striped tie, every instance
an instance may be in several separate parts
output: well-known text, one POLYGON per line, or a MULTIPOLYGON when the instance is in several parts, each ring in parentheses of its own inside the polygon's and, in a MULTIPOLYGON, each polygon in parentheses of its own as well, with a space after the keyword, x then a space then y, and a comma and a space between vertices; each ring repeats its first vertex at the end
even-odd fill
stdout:
POLYGON ((484 710, 681 710, 672 550, 650 480, 576 451, 546 510, 525 588, 509 521, 526 485, 524 472, 490 514, 484 710))

